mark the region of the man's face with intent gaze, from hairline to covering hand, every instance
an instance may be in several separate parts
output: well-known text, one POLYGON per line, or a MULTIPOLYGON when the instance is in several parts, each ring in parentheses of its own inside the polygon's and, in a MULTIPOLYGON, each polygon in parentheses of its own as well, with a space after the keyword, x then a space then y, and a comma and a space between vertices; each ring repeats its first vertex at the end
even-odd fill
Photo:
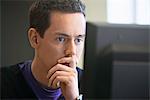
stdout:
POLYGON ((60 58, 71 56, 79 60, 85 39, 85 17, 82 13, 53 12, 50 27, 40 38, 36 49, 42 67, 49 70, 60 58))

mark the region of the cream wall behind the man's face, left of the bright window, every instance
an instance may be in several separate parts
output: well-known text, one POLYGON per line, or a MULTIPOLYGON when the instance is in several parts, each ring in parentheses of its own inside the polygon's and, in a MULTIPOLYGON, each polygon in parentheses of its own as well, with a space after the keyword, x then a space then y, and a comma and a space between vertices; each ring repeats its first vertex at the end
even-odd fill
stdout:
MULTIPOLYGON (((106 0, 82 0, 86 5, 86 20, 89 22, 105 23, 106 0)), ((78 66, 83 68, 84 53, 81 56, 78 66)))

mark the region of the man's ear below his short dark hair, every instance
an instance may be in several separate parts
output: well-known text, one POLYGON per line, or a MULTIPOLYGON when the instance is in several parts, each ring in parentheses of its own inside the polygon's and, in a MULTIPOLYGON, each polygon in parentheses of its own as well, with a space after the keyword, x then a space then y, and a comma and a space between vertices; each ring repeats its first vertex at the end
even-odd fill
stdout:
POLYGON ((31 44, 31 46, 33 48, 38 48, 39 47, 39 33, 36 31, 35 28, 30 28, 28 30, 28 39, 29 39, 29 42, 31 44))

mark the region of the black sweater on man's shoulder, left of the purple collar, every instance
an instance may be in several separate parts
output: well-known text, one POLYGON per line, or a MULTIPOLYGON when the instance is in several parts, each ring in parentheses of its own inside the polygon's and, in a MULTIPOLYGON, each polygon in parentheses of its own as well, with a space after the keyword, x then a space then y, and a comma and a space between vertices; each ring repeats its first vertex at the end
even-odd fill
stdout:
POLYGON ((1 98, 33 97, 20 70, 20 64, 1 68, 1 98))

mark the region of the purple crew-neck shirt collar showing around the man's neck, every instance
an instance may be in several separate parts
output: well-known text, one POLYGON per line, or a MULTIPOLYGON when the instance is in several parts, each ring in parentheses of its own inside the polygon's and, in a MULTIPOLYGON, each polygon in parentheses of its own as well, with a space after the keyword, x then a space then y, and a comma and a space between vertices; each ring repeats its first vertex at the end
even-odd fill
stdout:
POLYGON ((32 61, 25 61, 21 63, 20 69, 25 77, 25 80, 32 88, 33 92, 35 93, 36 97, 40 99, 49 99, 49 100, 58 100, 61 96, 61 89, 50 89, 48 87, 43 87, 33 76, 31 72, 31 63, 32 61))

